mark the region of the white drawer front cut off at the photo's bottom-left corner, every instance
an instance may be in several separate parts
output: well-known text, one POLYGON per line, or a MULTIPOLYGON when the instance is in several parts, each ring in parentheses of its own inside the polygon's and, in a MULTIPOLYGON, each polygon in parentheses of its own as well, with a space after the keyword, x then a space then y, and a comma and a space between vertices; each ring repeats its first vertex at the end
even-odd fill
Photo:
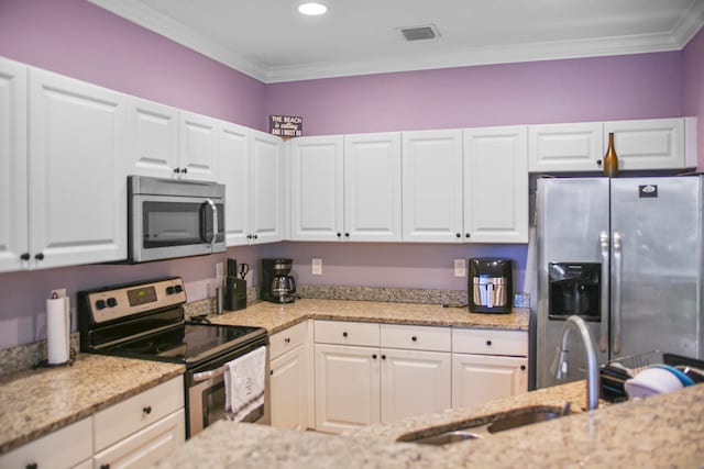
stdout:
POLYGON ((90 417, 28 443, 0 456, 0 467, 23 469, 69 468, 92 457, 92 425, 90 417))

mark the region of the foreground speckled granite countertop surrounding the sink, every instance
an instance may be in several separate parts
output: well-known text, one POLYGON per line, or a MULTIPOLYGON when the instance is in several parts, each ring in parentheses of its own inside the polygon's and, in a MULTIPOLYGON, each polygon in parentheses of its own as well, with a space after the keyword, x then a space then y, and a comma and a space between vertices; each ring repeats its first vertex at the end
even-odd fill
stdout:
POLYGON ((704 386, 584 412, 584 381, 440 414, 326 435, 221 421, 157 468, 698 468, 704 465, 704 386), (396 443, 411 431, 522 405, 573 403, 578 412, 443 447, 396 443))

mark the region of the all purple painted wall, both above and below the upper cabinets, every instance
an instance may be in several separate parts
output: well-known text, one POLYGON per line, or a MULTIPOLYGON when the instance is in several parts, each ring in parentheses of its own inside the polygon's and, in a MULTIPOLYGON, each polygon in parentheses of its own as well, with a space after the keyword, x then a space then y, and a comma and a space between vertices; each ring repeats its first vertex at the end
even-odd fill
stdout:
MULTIPOLYGON (((302 115, 307 135, 678 116, 682 93, 685 111, 702 115, 703 55, 700 33, 683 54, 265 86, 84 0, 0 0, 0 56, 254 129, 264 130, 270 113, 302 115)), ((701 155, 701 122, 700 131, 701 155)), ((496 245, 282 243, 228 252, 253 266, 278 255, 295 259, 305 283, 409 288, 464 288, 465 279, 452 276, 454 258, 508 257, 516 260, 516 277, 526 263, 525 246, 496 245), (323 258, 322 277, 310 275, 312 257, 323 258)), ((0 349, 43 336, 44 299, 52 289, 66 287, 74 295, 167 275, 196 282, 211 278, 224 257, 0 273, 0 349)))

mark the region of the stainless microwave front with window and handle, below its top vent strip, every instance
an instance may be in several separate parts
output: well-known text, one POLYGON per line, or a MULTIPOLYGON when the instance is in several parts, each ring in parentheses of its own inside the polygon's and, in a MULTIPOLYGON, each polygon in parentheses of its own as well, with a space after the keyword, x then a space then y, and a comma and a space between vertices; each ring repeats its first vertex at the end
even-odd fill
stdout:
POLYGON ((221 199, 154 194, 132 197, 131 261, 224 250, 224 205, 221 199))

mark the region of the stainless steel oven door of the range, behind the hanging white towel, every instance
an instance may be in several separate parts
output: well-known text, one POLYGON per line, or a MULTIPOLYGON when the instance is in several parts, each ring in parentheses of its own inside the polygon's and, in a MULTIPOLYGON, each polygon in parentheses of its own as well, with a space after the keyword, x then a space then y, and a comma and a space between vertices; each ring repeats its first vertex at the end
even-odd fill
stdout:
POLYGON ((258 347, 266 346, 266 337, 263 337, 187 371, 187 438, 196 435, 213 422, 227 417, 224 392, 224 372, 227 368, 224 365, 258 347))

